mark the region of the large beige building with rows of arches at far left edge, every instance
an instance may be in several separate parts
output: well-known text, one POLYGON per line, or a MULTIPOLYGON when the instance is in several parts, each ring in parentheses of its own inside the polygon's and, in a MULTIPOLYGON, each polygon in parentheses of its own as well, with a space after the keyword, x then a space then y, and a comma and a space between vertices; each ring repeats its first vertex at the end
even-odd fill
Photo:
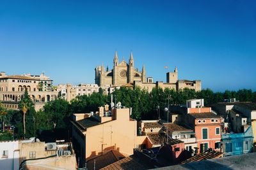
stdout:
POLYGON ((0 73, 0 101, 4 107, 17 110, 25 89, 35 103, 36 110, 58 97, 58 92, 52 89, 52 80, 44 74, 8 76, 4 72, 0 73))

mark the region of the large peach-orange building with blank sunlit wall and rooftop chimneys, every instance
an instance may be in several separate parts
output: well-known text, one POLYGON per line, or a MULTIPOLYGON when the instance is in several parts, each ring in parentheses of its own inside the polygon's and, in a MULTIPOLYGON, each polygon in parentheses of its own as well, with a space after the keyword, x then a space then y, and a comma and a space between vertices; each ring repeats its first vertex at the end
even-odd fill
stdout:
POLYGON ((132 155, 133 149, 147 145, 147 136, 137 136, 137 121, 130 118, 129 108, 113 108, 108 105, 96 113, 73 115, 72 140, 79 156, 80 167, 84 163, 109 150, 132 155))

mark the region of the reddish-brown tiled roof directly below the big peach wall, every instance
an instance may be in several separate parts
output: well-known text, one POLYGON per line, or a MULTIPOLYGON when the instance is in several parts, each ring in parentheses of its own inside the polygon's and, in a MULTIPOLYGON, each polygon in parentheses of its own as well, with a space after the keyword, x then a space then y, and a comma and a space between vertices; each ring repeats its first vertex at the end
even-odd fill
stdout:
POLYGON ((86 162, 86 166, 88 169, 94 168, 94 161, 95 161, 95 169, 101 169, 102 167, 109 166, 114 162, 124 159, 125 156, 122 153, 118 152, 117 150, 111 150, 103 155, 99 155, 94 157, 86 162))

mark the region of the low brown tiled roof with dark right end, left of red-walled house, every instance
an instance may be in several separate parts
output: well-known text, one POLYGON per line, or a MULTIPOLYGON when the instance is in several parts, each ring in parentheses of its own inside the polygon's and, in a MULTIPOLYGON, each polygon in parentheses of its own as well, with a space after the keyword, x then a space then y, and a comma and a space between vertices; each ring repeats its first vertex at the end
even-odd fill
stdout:
MULTIPOLYGON (((148 133, 147 134, 148 139, 152 142, 153 145, 162 145, 163 143, 167 143, 166 134, 163 132, 159 133, 148 133)), ((175 145, 178 143, 183 143, 183 141, 180 141, 178 139, 172 139, 168 136, 168 144, 169 145, 175 145)))

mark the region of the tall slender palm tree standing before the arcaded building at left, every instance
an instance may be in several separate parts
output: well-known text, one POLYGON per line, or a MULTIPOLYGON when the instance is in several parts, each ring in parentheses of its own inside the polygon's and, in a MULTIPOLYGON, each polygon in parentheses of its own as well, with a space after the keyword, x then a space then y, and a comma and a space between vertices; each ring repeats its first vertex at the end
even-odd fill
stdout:
POLYGON ((19 102, 19 110, 23 113, 23 128, 24 128, 24 138, 26 138, 26 113, 33 106, 33 102, 28 96, 28 90, 25 89, 24 97, 19 102))

